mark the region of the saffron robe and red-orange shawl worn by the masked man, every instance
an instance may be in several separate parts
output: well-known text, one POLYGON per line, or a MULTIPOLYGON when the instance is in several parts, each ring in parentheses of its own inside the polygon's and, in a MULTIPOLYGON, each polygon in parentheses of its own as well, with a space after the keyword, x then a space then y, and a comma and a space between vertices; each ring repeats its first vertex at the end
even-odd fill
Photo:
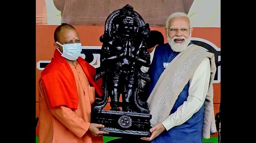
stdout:
MULTIPOLYGON (((61 61, 59 64, 63 65, 55 64, 46 67, 47 72, 42 72, 39 81, 39 143, 103 143, 102 137, 91 137, 87 132, 91 121, 91 105, 95 100, 95 88, 90 86, 92 83, 89 82, 90 80, 86 76, 88 73, 84 72, 84 68, 93 67, 84 66, 85 61, 81 62, 83 59, 78 60, 79 64, 75 66, 69 65, 56 50, 54 58, 61 61), (65 66, 67 69, 63 70, 65 66), (56 77, 60 78, 63 83, 56 82, 58 81, 54 79, 56 77), (65 80, 61 77, 64 77, 65 80), (50 82, 50 78, 53 82, 50 82), (68 85, 70 86, 68 87, 68 85), (53 91, 54 87, 55 91, 53 91), (75 88, 71 89, 70 87, 75 88), (73 94, 72 97, 67 94, 69 92, 77 94, 73 94), (62 96, 63 99, 61 99, 62 94, 67 95, 62 96), (59 100, 52 96, 58 97, 59 100), (68 98, 74 99, 73 102, 71 103, 68 98)), ((101 87, 100 84, 93 83, 93 85, 101 87)), ((102 95, 100 91, 98 94, 102 95)))

